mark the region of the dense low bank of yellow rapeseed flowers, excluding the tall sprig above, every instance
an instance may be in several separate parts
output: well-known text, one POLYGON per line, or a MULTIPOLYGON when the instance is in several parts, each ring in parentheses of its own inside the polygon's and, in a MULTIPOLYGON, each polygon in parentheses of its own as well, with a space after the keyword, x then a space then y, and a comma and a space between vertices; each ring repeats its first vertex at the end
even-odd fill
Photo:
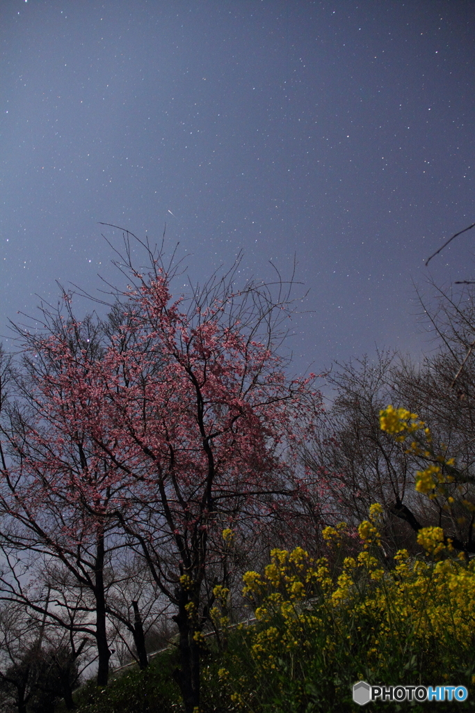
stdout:
MULTIPOLYGON (((333 710, 330 700, 343 701, 358 678, 430 684, 454 672, 459 680, 461 667, 475 660, 474 563, 456 558, 441 528, 423 528, 417 539, 425 554, 399 550, 388 568, 380 549, 381 515, 376 503, 358 528, 360 551, 336 568, 331 555, 279 549, 263 573, 244 575, 258 620, 244 636, 254 676, 268 682, 276 711, 320 710, 316 703, 306 708, 312 686, 318 688, 315 700, 333 710)), ((325 539, 330 546, 344 544, 345 533, 345 525, 326 528, 325 539)), ((256 694, 246 698, 236 682, 226 684, 241 694, 241 709, 250 710, 249 695, 256 694)))

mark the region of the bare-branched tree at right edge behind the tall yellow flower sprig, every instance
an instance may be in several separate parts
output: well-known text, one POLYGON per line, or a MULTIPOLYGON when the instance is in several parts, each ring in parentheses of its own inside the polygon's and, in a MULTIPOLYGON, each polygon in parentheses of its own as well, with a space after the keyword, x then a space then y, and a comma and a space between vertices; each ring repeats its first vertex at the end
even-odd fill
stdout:
POLYGON ((416 531, 423 523, 436 524, 456 548, 471 553, 475 551, 474 289, 464 287, 458 294, 454 289, 436 289, 435 306, 423 307, 439 349, 419 366, 402 360, 393 374, 395 403, 409 404, 430 429, 429 437, 419 429, 414 435, 416 447, 409 447, 419 468, 416 487, 429 495, 423 518, 409 511, 400 516, 416 531), (422 486, 422 476, 427 487, 422 486))

